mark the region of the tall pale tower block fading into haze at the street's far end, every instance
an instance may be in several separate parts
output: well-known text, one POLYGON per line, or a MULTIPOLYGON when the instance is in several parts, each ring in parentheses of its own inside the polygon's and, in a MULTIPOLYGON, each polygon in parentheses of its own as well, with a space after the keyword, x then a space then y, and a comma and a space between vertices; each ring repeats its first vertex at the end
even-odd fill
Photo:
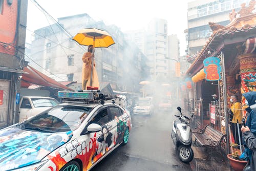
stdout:
POLYGON ((134 42, 147 56, 151 80, 175 76, 175 60, 179 60, 179 39, 177 35, 167 35, 166 20, 153 19, 147 31, 126 31, 124 39, 134 42))

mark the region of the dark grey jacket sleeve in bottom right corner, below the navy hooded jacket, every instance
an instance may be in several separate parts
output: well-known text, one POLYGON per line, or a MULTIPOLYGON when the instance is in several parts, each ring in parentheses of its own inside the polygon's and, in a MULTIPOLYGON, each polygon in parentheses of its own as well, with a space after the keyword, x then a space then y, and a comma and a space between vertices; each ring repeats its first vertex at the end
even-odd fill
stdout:
POLYGON ((247 147, 252 150, 252 159, 250 161, 251 170, 256 170, 256 137, 250 131, 246 131, 243 137, 247 147))

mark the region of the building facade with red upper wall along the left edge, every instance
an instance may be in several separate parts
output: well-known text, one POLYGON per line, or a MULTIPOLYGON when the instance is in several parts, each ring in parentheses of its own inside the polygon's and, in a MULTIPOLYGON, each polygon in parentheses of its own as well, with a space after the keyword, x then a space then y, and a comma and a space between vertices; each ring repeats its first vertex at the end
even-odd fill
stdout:
POLYGON ((27 0, 0 1, 0 128, 17 121, 27 7, 27 0))

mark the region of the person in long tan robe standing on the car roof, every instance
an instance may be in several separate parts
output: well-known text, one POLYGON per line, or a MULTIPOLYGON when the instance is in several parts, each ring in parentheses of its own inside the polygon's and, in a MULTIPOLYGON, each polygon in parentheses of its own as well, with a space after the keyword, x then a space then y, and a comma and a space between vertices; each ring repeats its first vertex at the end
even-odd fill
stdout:
MULTIPOLYGON (((92 73, 92 59, 93 46, 88 46, 88 52, 84 53, 82 56, 82 90, 87 90, 87 87, 91 86, 91 73, 92 73)), ((93 62, 93 74, 92 74, 92 87, 99 88, 99 79, 95 68, 95 61, 93 62)))

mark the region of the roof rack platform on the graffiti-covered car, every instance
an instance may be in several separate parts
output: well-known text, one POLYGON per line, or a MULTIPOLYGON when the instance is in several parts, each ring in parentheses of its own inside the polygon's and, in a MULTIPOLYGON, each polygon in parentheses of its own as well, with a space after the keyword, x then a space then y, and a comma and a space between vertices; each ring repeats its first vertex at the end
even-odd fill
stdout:
POLYGON ((99 90, 81 90, 81 91, 59 91, 58 98, 61 102, 83 103, 100 101, 104 104, 104 100, 116 99, 113 94, 103 94, 99 90))

